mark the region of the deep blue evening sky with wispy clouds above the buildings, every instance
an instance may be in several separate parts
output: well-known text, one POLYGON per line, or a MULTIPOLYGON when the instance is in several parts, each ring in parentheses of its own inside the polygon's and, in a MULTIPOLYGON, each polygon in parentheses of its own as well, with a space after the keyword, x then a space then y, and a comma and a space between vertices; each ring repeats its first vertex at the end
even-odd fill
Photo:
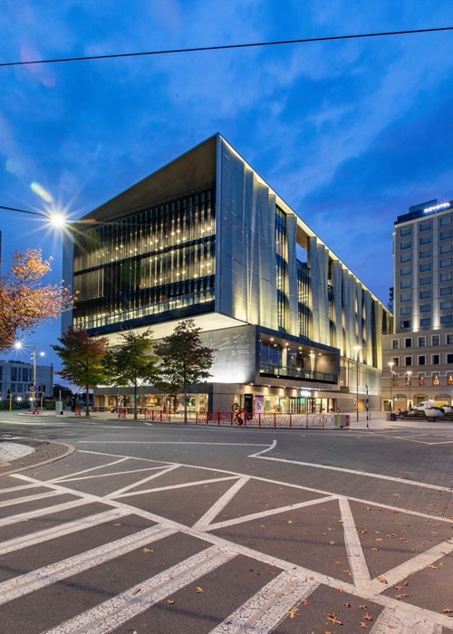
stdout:
MULTIPOLYGON (((452 23, 451 0, 3 0, 0 61, 452 23)), ((215 132, 382 302, 396 216, 453 198, 453 34, 0 68, 0 205, 72 217, 215 132), (33 187, 32 187, 33 186, 33 187), (50 199, 50 198, 49 198, 50 199)), ((61 239, 0 211, 3 266, 61 239)), ((29 341, 55 361, 58 322, 29 341)))

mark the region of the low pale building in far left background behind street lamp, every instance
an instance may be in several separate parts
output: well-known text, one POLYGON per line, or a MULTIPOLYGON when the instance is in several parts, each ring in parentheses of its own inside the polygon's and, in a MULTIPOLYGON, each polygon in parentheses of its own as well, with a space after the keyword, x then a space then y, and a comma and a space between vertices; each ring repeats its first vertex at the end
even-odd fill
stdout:
MULTIPOLYGON (((6 400, 13 398, 30 399, 33 387, 33 363, 17 360, 0 360, 0 396, 6 400), (8 390, 11 390, 8 391, 8 390)), ((36 393, 44 398, 53 396, 53 366, 36 365, 36 393)))

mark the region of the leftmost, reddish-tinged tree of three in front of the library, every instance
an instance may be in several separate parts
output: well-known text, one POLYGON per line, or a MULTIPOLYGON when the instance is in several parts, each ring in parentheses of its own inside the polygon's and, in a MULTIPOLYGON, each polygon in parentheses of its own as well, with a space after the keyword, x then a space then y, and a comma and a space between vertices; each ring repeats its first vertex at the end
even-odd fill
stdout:
POLYGON ((87 331, 70 329, 58 341, 61 345, 52 346, 62 360, 63 370, 60 376, 85 389, 85 415, 90 416, 89 391, 108 377, 104 365, 109 341, 105 337, 90 337, 87 331))

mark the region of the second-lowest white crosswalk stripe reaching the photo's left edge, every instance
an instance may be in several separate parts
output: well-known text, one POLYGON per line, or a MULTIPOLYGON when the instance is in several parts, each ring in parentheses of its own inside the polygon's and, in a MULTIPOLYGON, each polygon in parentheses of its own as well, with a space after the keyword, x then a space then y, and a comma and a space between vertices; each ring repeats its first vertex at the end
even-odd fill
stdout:
POLYGON ((59 526, 53 526, 53 528, 46 528, 43 531, 37 533, 29 533, 22 535, 21 537, 14 537, 14 539, 7 540, 0 543, 0 555, 6 554, 6 552, 13 552, 18 549, 28 548, 28 546, 35 546, 37 543, 48 542, 51 539, 62 537, 63 535, 69 535, 71 533, 77 533, 85 528, 91 526, 97 526, 97 524, 104 524, 111 520, 116 520, 119 517, 126 515, 121 509, 111 509, 111 511, 104 511, 95 515, 89 515, 83 517, 80 520, 73 520, 72 522, 65 522, 59 526))

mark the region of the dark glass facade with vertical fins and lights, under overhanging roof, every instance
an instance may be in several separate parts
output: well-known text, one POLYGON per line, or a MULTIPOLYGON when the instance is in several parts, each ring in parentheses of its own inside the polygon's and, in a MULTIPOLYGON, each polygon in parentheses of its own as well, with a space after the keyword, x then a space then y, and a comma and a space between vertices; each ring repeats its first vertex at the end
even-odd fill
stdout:
POLYGON ((83 230, 74 239, 74 326, 101 326, 214 300, 215 191, 83 230))

